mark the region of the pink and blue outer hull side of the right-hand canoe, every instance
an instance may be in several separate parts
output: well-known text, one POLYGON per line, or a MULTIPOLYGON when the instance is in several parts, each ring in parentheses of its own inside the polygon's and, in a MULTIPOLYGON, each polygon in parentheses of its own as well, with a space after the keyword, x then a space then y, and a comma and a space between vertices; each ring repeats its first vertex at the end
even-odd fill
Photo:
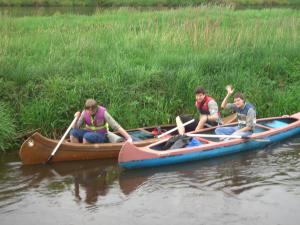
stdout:
POLYGON ((193 147, 171 151, 156 151, 148 148, 139 148, 130 143, 124 144, 119 154, 119 165, 126 169, 155 167, 170 165, 189 161, 203 160, 214 157, 221 157, 238 152, 264 148, 275 142, 285 140, 300 133, 300 122, 297 121, 285 129, 275 129, 265 134, 262 138, 267 138, 267 142, 250 140, 229 140, 211 144, 211 147, 193 147))

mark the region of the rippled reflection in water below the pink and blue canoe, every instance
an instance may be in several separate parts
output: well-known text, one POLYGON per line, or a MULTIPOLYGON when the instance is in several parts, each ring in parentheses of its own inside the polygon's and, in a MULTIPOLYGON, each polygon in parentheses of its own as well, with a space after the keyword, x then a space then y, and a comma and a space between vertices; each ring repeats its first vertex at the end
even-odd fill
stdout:
MULTIPOLYGON (((129 195, 155 185, 161 189, 199 189, 240 195, 251 189, 294 185, 300 180, 300 139, 218 159, 123 171, 120 188, 129 195), (296 148, 296 149, 295 149, 296 148)), ((151 188, 150 188, 151 189, 151 188)), ((299 190, 298 190, 299 191, 299 190)))

